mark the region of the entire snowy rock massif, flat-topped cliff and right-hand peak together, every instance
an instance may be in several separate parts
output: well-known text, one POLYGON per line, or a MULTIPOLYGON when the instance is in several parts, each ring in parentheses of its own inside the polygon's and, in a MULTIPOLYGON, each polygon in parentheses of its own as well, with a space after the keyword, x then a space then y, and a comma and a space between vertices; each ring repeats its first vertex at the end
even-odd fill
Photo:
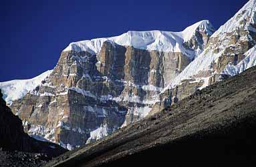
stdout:
POLYGON ((256 65, 255 9, 250 0, 216 32, 204 20, 70 43, 33 86, 0 88, 25 132, 72 150, 256 65))

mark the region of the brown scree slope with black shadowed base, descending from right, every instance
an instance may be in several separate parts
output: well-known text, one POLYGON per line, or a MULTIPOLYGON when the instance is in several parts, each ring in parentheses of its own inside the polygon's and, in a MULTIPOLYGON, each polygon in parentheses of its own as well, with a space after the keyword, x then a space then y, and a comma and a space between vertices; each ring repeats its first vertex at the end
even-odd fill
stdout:
POLYGON ((256 67, 46 166, 255 166, 256 67))

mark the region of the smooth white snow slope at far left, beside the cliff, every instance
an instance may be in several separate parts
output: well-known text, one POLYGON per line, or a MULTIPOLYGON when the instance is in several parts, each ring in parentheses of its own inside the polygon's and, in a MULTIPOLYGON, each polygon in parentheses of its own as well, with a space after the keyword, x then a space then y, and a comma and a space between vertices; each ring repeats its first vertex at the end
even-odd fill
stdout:
POLYGON ((25 96, 25 94, 27 94, 27 92, 39 86, 41 81, 43 81, 43 79, 45 79, 45 77, 47 77, 51 71, 52 70, 45 71, 44 73, 41 73, 41 75, 33 77, 32 79, 18 79, 0 82, 3 98, 7 104, 11 104, 13 100, 22 98, 25 96))

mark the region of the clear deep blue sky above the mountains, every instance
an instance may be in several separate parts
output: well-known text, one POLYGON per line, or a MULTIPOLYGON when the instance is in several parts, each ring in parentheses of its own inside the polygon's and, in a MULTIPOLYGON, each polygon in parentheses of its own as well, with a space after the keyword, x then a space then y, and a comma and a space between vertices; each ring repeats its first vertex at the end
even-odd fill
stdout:
POLYGON ((182 31, 209 19, 219 28, 247 0, 14 1, 0 5, 0 81, 27 79, 53 69, 72 41, 128 30, 182 31))

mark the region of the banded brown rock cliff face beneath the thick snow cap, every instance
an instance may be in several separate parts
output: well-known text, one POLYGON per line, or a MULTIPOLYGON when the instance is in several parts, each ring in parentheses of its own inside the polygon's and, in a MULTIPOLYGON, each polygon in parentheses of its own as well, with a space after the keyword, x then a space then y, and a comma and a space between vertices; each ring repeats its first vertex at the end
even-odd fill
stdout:
POLYGON ((144 118, 166 80, 190 61, 108 42, 97 56, 63 52, 41 86, 11 108, 29 134, 72 149, 144 118))

